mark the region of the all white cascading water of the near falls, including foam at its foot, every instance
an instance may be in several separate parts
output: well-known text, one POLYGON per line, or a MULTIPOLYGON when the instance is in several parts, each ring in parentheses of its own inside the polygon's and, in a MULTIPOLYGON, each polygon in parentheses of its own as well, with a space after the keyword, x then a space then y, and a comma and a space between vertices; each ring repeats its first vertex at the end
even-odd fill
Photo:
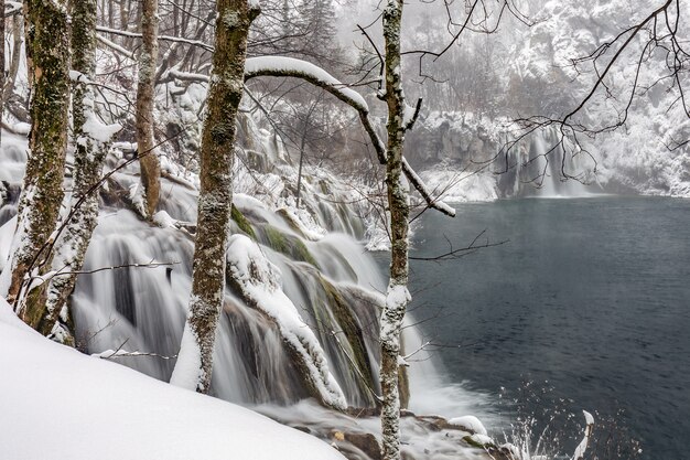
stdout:
MULTIPOLYGON (((15 213, 17 175, 23 172, 25 159, 17 152, 23 151, 3 146, 0 157, 0 171, 6 174, 0 176, 6 184, 0 215, 8 217, 15 213)), ((268 158, 279 157, 279 153, 272 152, 268 158)), ((112 186, 103 194, 106 202, 136 186, 136 172, 115 174, 112 186)), ((304 207, 297 208, 292 205, 293 196, 285 193, 289 184, 295 182, 294 169, 273 165, 272 172, 261 179, 265 191, 266 184, 273 181, 271 195, 266 191, 267 196, 259 202, 249 195, 236 194, 231 231, 256 240, 261 253, 278 268, 282 292, 319 340, 347 405, 374 407, 375 395, 380 394, 378 317, 386 280, 355 239, 362 238, 363 224, 357 210, 343 204, 353 200, 342 190, 330 190, 335 189, 335 180, 314 172, 305 178, 304 207), (280 175, 276 174, 277 170, 280 175)), ((246 178, 237 182, 242 181, 247 183, 246 178)), ((101 356, 107 356, 108 350, 118 349, 143 353, 112 359, 168 381, 180 349, 191 290, 193 235, 190 232, 194 231, 196 205, 195 192, 180 181, 163 180, 161 191, 161 206, 185 225, 158 227, 141 221, 129 210, 104 207, 86 255, 84 274, 78 277, 72 297, 72 311, 80 350, 101 356)), ((9 225, 0 228, 0 247, 11 236, 8 228, 9 225)), ((279 409, 314 396, 313 388, 295 365, 276 320, 249 304, 242 292, 233 288, 230 279, 228 286, 216 341, 212 393, 244 405, 261 405, 262 411, 291 425, 304 422, 300 417, 310 418, 302 411, 304 407, 311 407, 308 413, 317 414, 315 417, 321 422, 352 424, 311 403, 300 406, 302 409, 295 410, 292 417, 279 409)), ((406 329, 405 342, 409 349, 421 344, 416 328, 406 329)), ((413 362, 409 374, 414 409, 452 416, 476 413, 481 407, 479 395, 468 396, 461 388, 443 383, 429 356, 413 362)), ((368 432, 377 431, 375 421, 367 424, 363 426, 368 432)), ((420 446, 427 446, 420 447, 423 452, 429 447, 428 435, 428 429, 418 427, 410 428, 410 435, 405 436, 412 436, 420 446)), ((442 449, 457 451, 462 450, 457 439, 446 437, 438 442, 442 449)))

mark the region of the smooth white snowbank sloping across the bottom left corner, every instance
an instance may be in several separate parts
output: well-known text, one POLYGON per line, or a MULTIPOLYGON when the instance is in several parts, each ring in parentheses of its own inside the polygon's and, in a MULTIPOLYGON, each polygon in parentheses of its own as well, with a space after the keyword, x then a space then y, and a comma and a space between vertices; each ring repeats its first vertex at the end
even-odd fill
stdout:
POLYGON ((0 458, 343 460, 239 406, 42 338, 0 298, 0 458))

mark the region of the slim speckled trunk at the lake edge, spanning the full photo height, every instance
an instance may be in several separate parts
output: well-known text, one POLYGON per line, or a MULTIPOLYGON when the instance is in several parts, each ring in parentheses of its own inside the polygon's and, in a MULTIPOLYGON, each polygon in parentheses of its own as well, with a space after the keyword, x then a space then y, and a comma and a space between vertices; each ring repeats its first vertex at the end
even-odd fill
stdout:
POLYGON ((400 69, 400 20, 402 0, 388 0, 384 10, 384 39, 386 41, 386 103, 388 105, 388 156, 386 186, 390 208, 390 280, 386 306, 381 314, 380 382, 384 396, 381 408, 381 457, 400 458, 400 391, 399 361, 400 330, 407 303, 408 285, 408 192, 400 182, 402 145, 405 140, 405 96, 400 69))

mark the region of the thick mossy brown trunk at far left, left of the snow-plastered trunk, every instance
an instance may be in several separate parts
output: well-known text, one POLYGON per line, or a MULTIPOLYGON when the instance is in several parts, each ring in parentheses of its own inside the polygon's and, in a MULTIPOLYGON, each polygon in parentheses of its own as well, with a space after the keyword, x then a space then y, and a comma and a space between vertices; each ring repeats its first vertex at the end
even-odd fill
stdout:
POLYGON ((50 267, 50 238, 64 196, 69 35, 64 0, 29 0, 25 8, 32 31, 26 41, 31 56, 32 127, 8 300, 14 303, 20 317, 35 328, 42 309, 24 309, 18 301, 22 300, 29 278, 50 267))

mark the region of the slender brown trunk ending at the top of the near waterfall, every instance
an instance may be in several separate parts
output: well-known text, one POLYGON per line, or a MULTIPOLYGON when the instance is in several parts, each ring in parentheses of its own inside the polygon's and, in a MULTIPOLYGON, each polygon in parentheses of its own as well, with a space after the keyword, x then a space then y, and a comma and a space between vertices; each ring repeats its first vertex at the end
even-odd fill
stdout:
POLYGON ((151 218, 158 206, 161 190, 161 162, 153 141, 153 96, 155 92, 155 64, 158 61, 158 0, 143 0, 141 4, 141 54, 139 55, 139 84, 137 85, 137 150, 143 185, 144 212, 151 218))

